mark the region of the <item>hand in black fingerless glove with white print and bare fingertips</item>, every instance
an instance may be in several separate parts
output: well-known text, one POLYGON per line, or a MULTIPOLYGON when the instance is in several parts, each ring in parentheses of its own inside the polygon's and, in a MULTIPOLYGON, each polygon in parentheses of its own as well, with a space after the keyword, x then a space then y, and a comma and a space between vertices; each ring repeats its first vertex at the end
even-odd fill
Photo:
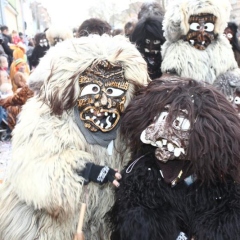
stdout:
POLYGON ((121 174, 112 168, 96 165, 94 163, 87 163, 84 170, 78 172, 78 174, 85 179, 84 184, 88 184, 90 181, 100 185, 107 182, 112 182, 116 187, 119 187, 120 185, 116 178, 122 178, 121 174))

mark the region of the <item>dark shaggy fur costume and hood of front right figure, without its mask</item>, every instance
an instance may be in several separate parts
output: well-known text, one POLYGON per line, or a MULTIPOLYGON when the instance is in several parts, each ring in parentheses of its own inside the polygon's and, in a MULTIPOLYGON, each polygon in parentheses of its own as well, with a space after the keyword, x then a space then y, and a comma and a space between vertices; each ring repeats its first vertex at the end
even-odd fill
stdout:
POLYGON ((240 239, 240 123, 222 94, 193 80, 155 80, 128 106, 121 131, 133 161, 122 171, 108 214, 112 240, 240 239), (163 163, 156 147, 140 141, 166 105, 169 126, 180 109, 188 111, 185 161, 163 163))

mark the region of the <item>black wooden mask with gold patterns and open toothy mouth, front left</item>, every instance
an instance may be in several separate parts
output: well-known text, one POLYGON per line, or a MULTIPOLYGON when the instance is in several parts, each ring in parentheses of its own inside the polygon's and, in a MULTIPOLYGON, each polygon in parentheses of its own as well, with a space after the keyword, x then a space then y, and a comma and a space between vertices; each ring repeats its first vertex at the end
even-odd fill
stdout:
POLYGON ((92 131, 109 132, 120 120, 129 83, 120 63, 107 60, 93 63, 80 76, 78 109, 84 126, 92 131))

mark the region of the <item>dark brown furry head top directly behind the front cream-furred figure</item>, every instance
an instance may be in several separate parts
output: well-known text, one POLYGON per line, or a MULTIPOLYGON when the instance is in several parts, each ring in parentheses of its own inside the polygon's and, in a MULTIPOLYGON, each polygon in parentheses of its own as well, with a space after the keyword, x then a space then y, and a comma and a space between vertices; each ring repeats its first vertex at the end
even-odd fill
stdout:
POLYGON ((108 22, 99 18, 90 18, 85 20, 78 28, 77 37, 88 36, 90 34, 103 34, 111 35, 111 26, 108 22))

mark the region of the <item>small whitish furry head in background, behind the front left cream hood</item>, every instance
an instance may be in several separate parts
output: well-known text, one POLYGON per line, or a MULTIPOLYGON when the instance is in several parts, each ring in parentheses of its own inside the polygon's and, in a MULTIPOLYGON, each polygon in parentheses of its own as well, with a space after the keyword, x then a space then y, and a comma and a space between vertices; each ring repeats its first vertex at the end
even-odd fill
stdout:
POLYGON ((51 26, 46 30, 46 38, 51 47, 66 39, 73 38, 73 32, 70 28, 64 26, 51 26))

